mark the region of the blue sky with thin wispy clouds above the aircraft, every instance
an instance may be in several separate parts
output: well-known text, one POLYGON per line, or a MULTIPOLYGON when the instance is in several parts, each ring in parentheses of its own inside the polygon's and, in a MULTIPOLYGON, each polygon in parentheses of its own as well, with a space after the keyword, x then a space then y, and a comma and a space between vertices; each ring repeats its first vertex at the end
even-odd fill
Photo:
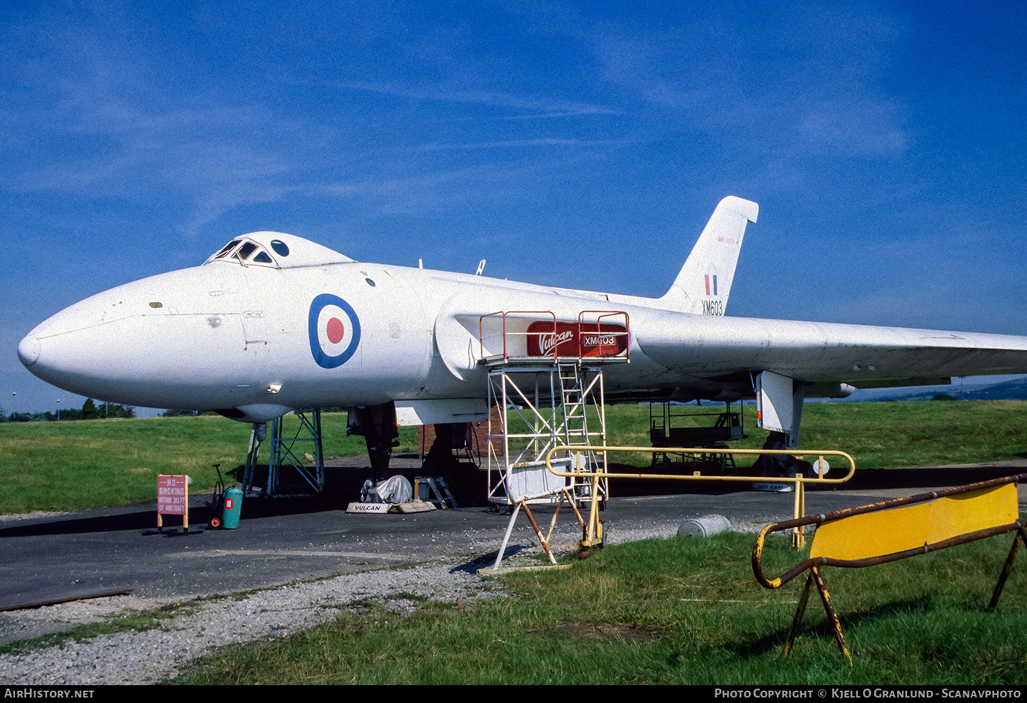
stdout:
POLYGON ((80 407, 21 337, 239 233, 655 296, 729 194, 729 314, 1025 334, 1024 36, 1023 2, 3 3, 0 406, 80 407))

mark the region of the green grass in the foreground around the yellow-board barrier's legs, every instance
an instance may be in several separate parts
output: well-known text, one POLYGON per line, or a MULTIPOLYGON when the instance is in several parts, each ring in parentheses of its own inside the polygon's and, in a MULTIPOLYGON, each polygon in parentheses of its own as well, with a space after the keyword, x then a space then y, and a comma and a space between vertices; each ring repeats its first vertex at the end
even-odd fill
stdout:
MULTIPOLYGON (((825 569, 852 653, 839 653, 815 594, 781 659, 804 577, 758 586, 754 535, 644 540, 567 570, 503 577, 514 595, 425 603, 409 617, 373 605, 291 637, 220 651, 182 683, 358 684, 1024 684, 1027 570, 994 612, 1012 535, 901 562, 825 569)), ((779 574, 803 558, 771 540, 779 574)))

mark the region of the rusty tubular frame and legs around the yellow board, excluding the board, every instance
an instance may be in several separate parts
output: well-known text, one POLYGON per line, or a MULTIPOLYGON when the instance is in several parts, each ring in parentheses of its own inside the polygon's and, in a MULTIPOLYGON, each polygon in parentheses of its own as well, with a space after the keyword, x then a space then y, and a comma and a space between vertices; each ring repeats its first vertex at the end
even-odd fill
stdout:
POLYGON ((928 501, 936 501, 938 498, 944 498, 952 495, 961 495, 965 493, 971 493, 975 491, 986 491, 989 489, 1004 486, 1006 484, 1018 484, 1027 482, 1027 474, 1018 474, 1015 476, 1006 476, 1004 478, 992 479, 990 481, 981 481, 979 483, 971 483, 964 486, 956 486, 954 488, 946 488, 943 490, 930 491, 928 493, 918 493, 916 495, 910 495, 907 497, 893 498, 890 501, 884 501, 882 503, 874 503, 868 506, 860 506, 857 508, 847 508, 845 510, 838 510, 831 513, 821 513, 819 515, 809 515, 804 517, 798 517, 792 520, 785 520, 783 522, 775 522, 764 527, 756 539, 756 544, 753 546, 753 576, 756 577, 756 581, 763 588, 775 589, 784 586, 790 582, 795 577, 799 576, 805 570, 809 570, 809 577, 806 580, 806 585, 803 588, 802 595, 799 599, 798 608, 795 612, 795 617, 792 620, 792 627, 788 633, 788 638, 785 641, 785 647, 783 657, 788 657, 789 652, 792 650, 792 645, 795 642, 795 637, 799 632, 799 625, 802 621, 802 616, 806 609, 806 602, 809 599, 812 587, 815 585, 817 591, 821 594, 821 600, 824 602, 824 609, 827 613, 828 620, 831 623, 832 630, 834 632, 835 639, 838 642, 838 649, 842 654, 848 659, 849 665, 852 664, 852 657, 849 654, 848 645, 845 643, 845 636, 841 631, 841 623, 838 620, 838 615, 835 612, 834 605, 831 602, 831 596, 827 589, 827 584, 824 582, 824 576, 821 571, 823 566, 841 566, 847 568, 862 568, 864 566, 874 566, 877 564, 884 564, 890 561, 899 561, 900 559, 908 559, 912 556, 917 556, 920 554, 926 554, 927 552, 937 552, 940 549, 946 549, 948 547, 955 547, 957 545, 964 545, 971 542, 977 542, 978 540, 984 540, 989 536, 996 536, 998 534, 1005 534, 1007 532, 1016 531, 1017 535, 1013 540, 1013 547, 1010 549, 1010 554, 1005 559, 1005 564, 1002 567, 1002 571, 998 577, 998 582, 995 584, 995 589, 991 595, 991 601, 988 603, 988 609, 994 609, 998 604, 998 597, 1002 593, 1002 588, 1005 585, 1006 578, 1013 568, 1013 561, 1016 558, 1017 551, 1020 546, 1027 541, 1027 526, 1025 526, 1024 521, 1016 519, 1013 522, 992 525, 990 527, 985 527, 982 529, 976 529, 971 532, 956 534, 954 536, 940 540, 934 544, 924 543, 921 547, 916 547, 913 549, 907 549, 899 552, 892 552, 890 554, 880 554, 873 557, 864 557, 858 559, 836 559, 828 556, 815 556, 801 561, 792 568, 785 571, 782 576, 776 579, 767 579, 763 574, 762 556, 763 556, 763 544, 766 535, 770 532, 779 532, 787 529, 798 529, 804 527, 805 525, 816 525, 820 526, 826 522, 833 522, 842 520, 844 518, 850 518, 858 515, 866 515, 869 513, 876 513, 880 511, 887 511, 895 508, 901 508, 903 506, 912 506, 918 503, 926 503, 928 501))

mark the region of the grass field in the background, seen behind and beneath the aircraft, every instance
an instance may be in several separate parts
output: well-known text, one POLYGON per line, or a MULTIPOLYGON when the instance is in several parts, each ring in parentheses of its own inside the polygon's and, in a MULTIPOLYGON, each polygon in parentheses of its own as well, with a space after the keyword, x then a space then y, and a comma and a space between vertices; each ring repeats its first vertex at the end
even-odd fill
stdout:
MULTIPOLYGON (((722 407, 680 409, 709 413, 722 407)), ((606 410, 611 445, 648 444, 648 405, 606 410)), ((754 427, 752 406, 745 412, 749 438, 736 445, 758 448, 767 433, 754 427)), ((858 469, 1022 458, 1027 452, 1025 415, 1027 401, 809 403, 800 449, 846 451, 858 469)), ((709 416, 695 421, 711 423, 709 416)), ((326 456, 366 451, 363 438, 346 437, 345 413, 325 413, 321 422, 326 456)), ((295 434, 298 424, 287 415, 284 434, 295 434)), ((212 465, 220 464, 223 472, 242 465, 249 439, 249 424, 218 415, 5 422, 0 424, 0 514, 155 499, 157 474, 188 474, 192 490, 210 488, 217 478, 212 465)), ((403 428, 397 452, 417 451, 415 428, 403 428)), ((611 460, 649 462, 643 454, 611 460)))

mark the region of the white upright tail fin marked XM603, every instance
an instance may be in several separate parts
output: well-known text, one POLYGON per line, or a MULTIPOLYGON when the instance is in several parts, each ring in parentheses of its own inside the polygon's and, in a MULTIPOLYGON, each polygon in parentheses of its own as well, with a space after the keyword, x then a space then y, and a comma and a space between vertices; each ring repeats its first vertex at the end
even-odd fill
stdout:
POLYGON ((758 205, 740 197, 728 195, 721 200, 671 290, 658 299, 660 306, 696 314, 724 314, 746 225, 756 222, 759 212, 758 205))

